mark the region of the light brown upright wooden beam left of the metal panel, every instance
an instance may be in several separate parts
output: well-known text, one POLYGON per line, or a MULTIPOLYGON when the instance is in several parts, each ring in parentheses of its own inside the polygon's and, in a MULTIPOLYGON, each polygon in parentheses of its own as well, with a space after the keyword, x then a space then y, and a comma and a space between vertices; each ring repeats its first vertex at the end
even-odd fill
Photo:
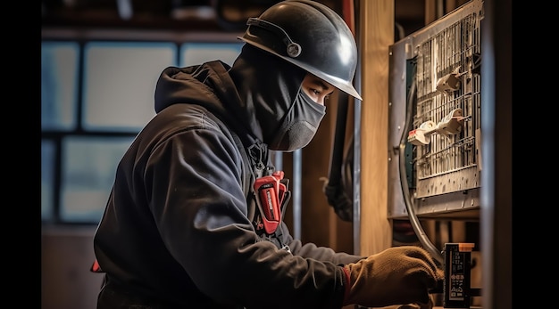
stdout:
POLYGON ((363 256, 392 247, 388 220, 388 46, 394 44, 394 0, 360 0, 361 181, 359 244, 363 256))

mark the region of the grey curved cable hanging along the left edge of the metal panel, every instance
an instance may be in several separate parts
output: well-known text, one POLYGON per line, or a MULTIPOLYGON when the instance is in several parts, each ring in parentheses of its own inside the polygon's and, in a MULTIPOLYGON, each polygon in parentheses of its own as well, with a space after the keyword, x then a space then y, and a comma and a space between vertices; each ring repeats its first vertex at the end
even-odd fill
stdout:
POLYGON ((407 175, 405 174, 405 145, 407 142, 406 133, 409 131, 409 127, 412 124, 412 107, 413 107, 413 97, 416 93, 415 85, 415 75, 413 75, 412 86, 408 94, 408 100, 405 110, 405 125, 402 129, 402 136, 400 137, 400 149, 399 149, 399 169, 400 169, 400 185, 402 187, 402 193, 404 194, 405 208, 407 209, 408 217, 410 218, 410 223, 412 224, 413 231, 417 235, 418 240, 420 240, 421 245, 431 256, 438 261, 441 265, 444 265, 444 257, 440 250, 438 250, 433 243, 429 240, 429 237, 423 231, 421 223, 415 211, 413 210, 413 200, 410 198, 410 189, 407 185, 407 175))

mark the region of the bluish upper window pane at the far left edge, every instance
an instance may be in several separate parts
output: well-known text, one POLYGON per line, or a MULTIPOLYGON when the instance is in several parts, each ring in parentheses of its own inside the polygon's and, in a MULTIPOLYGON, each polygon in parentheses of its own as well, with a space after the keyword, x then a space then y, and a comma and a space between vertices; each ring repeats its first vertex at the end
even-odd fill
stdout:
POLYGON ((41 42, 41 128, 76 127, 78 54, 75 42, 41 42))

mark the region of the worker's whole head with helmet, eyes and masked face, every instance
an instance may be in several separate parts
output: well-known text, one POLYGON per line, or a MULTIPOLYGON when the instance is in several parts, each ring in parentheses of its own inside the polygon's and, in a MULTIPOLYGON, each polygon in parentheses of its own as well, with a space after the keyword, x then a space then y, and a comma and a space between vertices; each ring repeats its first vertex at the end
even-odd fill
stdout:
POLYGON ((246 113, 254 115, 247 126, 258 126, 252 131, 262 133, 257 137, 271 150, 292 151, 311 142, 326 112, 323 96, 333 89, 361 99, 352 85, 355 39, 328 6, 283 1, 247 25, 239 37, 246 45, 230 76, 246 113))

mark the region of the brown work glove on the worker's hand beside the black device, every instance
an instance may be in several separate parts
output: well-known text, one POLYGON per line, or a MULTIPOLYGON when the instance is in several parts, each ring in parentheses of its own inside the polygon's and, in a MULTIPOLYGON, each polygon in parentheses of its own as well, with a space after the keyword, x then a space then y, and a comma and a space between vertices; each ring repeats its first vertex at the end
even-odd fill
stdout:
POLYGON ((430 303, 429 290, 444 273, 423 248, 388 248, 356 263, 344 265, 349 274, 349 291, 344 305, 384 307, 430 303))

